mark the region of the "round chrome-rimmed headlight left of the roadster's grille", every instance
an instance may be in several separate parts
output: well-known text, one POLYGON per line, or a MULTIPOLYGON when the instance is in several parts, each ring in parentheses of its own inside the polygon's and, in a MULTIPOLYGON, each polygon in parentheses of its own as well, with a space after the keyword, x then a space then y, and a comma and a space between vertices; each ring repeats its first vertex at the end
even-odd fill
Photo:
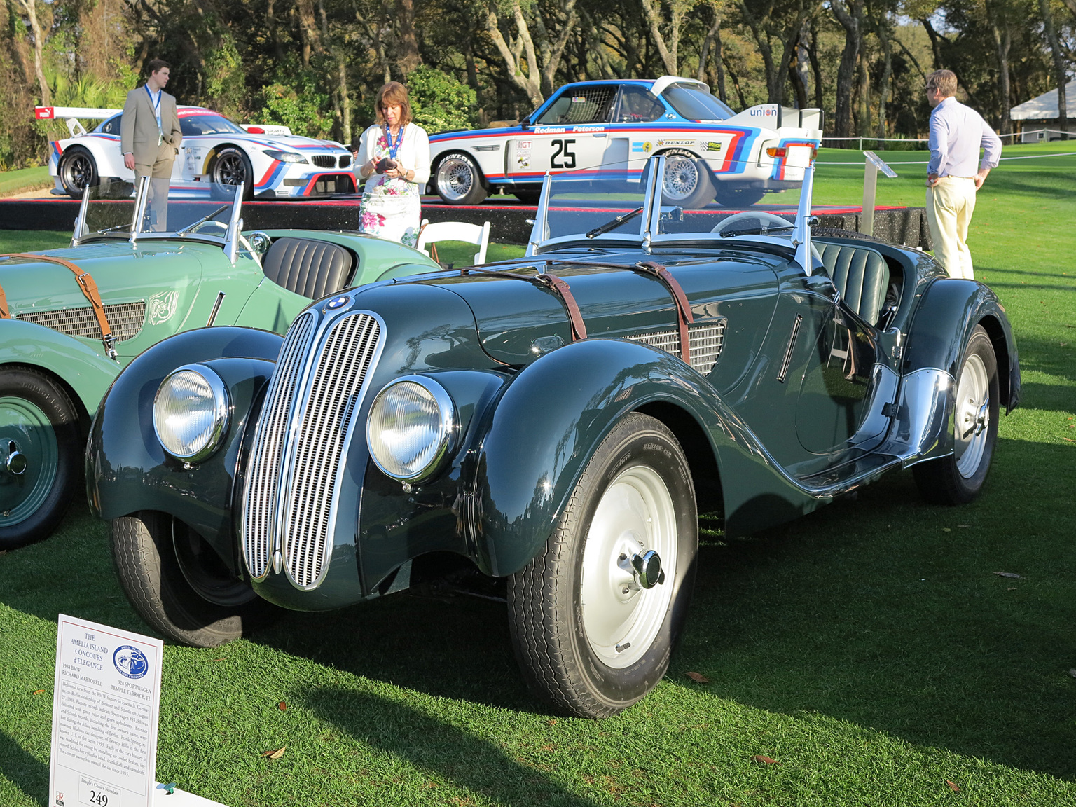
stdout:
POLYGON ((204 459, 221 444, 231 404, 221 377, 200 365, 168 376, 153 400, 153 428, 172 456, 204 459))

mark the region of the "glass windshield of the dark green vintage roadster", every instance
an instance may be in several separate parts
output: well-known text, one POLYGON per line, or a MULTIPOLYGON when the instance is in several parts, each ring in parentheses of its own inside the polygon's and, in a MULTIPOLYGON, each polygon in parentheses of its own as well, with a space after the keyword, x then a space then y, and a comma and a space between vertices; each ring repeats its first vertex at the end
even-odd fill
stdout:
POLYGON ((661 241, 767 237, 792 241, 809 213, 812 144, 775 146, 755 160, 716 148, 564 171, 547 178, 532 254, 579 241, 642 246, 661 241), (802 203, 804 202, 804 203, 802 203))

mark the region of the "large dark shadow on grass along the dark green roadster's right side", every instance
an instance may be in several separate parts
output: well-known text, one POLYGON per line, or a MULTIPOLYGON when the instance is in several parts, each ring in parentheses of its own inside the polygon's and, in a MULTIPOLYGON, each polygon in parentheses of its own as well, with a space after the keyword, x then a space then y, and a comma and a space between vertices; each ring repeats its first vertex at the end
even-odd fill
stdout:
POLYGON ((1072 780, 1074 485, 1071 451, 1002 441, 971 506, 928 506, 902 473, 704 547, 669 680, 1072 780))

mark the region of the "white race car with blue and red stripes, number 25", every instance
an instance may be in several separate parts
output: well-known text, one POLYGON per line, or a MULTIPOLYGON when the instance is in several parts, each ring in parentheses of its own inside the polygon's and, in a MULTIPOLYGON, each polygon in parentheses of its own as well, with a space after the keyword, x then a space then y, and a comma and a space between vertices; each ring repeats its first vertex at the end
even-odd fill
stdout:
POLYGON ((641 176, 648 157, 665 154, 664 199, 752 204, 797 187, 809 159, 795 152, 821 138, 821 110, 764 103, 736 114, 694 79, 578 82, 518 126, 430 137, 430 183, 449 204, 498 190, 535 203, 546 173, 626 161, 641 176))

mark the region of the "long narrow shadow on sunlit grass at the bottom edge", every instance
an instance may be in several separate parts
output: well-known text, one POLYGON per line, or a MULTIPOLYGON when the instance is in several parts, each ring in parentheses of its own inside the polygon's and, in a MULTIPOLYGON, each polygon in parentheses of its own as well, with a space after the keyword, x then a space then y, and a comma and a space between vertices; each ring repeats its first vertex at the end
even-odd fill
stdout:
POLYGON ((565 790, 543 770, 520 764, 508 750, 406 704, 334 686, 294 693, 291 698, 353 738, 492 803, 594 804, 565 790))

